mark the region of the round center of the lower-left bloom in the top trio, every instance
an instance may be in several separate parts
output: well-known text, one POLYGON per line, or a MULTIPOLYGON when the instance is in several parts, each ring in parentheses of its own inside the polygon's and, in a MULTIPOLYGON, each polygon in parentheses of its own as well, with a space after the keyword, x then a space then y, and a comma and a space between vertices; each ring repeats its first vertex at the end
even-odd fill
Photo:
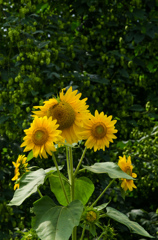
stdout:
POLYGON ((35 145, 43 145, 48 139, 48 132, 45 128, 36 129, 33 132, 33 142, 35 145))

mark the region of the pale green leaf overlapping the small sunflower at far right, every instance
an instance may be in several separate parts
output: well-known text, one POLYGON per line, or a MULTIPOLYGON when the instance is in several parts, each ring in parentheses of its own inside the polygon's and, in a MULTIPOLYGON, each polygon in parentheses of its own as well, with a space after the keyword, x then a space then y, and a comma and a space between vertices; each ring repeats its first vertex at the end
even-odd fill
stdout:
POLYGON ((130 175, 123 172, 121 168, 113 162, 95 163, 92 166, 83 165, 83 167, 94 173, 107 173, 110 178, 125 178, 133 180, 130 175))

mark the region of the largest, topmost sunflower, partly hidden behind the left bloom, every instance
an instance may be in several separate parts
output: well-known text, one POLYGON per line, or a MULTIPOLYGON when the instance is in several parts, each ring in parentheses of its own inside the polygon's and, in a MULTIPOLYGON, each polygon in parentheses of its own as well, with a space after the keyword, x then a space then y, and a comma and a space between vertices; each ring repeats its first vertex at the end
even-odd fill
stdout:
POLYGON ((87 98, 80 100, 81 93, 77 90, 72 91, 70 87, 64 94, 64 90, 59 94, 59 98, 52 98, 44 102, 44 106, 35 106, 35 109, 40 111, 33 111, 33 116, 38 117, 52 117, 57 120, 59 130, 62 131, 62 137, 70 144, 81 140, 79 133, 83 126, 83 122, 90 117, 88 105, 86 105, 87 98))

